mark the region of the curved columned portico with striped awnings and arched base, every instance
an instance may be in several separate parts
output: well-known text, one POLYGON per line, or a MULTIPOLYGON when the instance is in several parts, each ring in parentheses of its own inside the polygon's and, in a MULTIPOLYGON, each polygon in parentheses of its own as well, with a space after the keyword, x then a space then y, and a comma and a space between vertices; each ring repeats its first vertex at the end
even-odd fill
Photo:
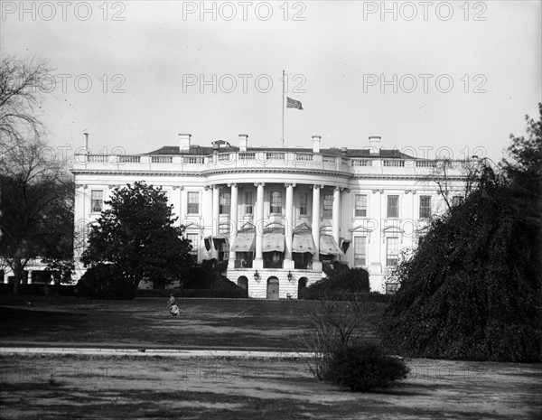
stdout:
POLYGON ((248 295, 269 297, 266 280, 276 277, 278 295, 295 298, 300 280, 307 285, 322 278, 321 255, 330 260, 343 255, 339 235, 345 187, 330 185, 329 178, 325 183, 266 178, 207 186, 212 191, 212 228, 206 232, 210 251, 228 260, 227 276, 246 282, 248 295))

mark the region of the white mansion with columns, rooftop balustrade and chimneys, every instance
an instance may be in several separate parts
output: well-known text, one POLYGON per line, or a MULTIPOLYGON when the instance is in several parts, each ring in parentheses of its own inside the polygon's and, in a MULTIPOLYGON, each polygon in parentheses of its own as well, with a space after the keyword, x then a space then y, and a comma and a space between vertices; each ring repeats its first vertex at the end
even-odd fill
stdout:
MULTIPOLYGON (((98 219, 114 188, 145 181, 163 188, 194 259, 228 260, 227 277, 251 297, 295 298, 333 261, 366 268, 371 290, 384 293, 401 249, 445 210, 438 162, 382 149, 380 137, 363 149, 320 143, 248 147, 239 135, 238 146, 203 147, 179 135, 150 154, 76 154, 76 226, 98 219)), ((462 167, 447 173, 450 201, 462 194, 462 167)))

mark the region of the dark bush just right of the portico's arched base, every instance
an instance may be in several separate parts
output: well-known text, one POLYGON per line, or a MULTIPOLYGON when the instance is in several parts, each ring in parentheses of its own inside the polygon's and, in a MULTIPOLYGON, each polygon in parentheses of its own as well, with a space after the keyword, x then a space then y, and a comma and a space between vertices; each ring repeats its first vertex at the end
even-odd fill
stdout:
POLYGON ((363 268, 339 269, 328 278, 313 283, 303 290, 303 299, 332 301, 356 300, 369 293, 369 273, 363 268))

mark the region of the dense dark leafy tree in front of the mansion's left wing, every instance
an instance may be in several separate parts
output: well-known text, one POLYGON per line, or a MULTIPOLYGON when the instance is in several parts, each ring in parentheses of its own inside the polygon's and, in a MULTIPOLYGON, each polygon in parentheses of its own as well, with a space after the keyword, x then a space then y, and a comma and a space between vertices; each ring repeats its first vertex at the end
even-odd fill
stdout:
POLYGON ((192 266, 192 245, 160 188, 145 182, 116 189, 89 232, 85 266, 113 264, 134 289, 140 281, 163 285, 182 280, 192 266))

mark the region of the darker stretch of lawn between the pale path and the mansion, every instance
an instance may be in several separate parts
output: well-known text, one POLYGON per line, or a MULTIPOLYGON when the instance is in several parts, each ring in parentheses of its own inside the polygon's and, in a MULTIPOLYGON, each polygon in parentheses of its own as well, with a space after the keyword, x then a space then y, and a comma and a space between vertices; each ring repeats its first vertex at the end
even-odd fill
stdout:
MULTIPOLYGON (((137 348, 236 348, 304 350, 303 334, 314 301, 178 299, 182 315, 166 299, 92 301, 73 297, 0 297, 0 345, 137 348)), ((374 338, 383 303, 367 303, 363 331, 374 338)))

